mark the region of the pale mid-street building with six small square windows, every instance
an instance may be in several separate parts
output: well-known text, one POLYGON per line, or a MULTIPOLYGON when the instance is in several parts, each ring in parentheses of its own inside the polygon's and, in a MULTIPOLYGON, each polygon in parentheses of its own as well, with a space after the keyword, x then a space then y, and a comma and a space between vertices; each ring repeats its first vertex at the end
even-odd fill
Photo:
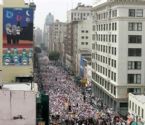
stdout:
POLYGON ((92 20, 75 21, 73 23, 73 64, 76 73, 79 73, 80 58, 83 56, 91 62, 92 47, 92 20))

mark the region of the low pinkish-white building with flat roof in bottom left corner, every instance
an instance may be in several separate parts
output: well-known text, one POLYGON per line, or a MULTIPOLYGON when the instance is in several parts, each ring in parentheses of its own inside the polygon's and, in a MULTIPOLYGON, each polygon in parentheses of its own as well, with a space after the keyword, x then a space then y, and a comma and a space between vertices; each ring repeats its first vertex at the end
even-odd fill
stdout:
POLYGON ((37 85, 33 85, 13 83, 2 86, 0 125, 36 125, 37 85))

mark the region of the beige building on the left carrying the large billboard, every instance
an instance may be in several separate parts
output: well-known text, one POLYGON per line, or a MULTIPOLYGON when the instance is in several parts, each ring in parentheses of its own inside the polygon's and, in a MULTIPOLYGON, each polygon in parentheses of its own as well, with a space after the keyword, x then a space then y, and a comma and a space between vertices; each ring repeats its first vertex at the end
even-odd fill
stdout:
POLYGON ((33 11, 24 0, 4 0, 0 5, 0 74, 3 83, 15 82, 18 76, 33 76, 33 11))

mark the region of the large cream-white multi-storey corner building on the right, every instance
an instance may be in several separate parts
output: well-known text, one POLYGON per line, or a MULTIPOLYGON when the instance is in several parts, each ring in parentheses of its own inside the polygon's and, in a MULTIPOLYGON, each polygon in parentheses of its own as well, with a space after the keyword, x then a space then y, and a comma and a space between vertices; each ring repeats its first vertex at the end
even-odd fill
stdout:
POLYGON ((94 94, 126 114, 128 93, 145 92, 145 1, 101 0, 93 13, 94 94))

